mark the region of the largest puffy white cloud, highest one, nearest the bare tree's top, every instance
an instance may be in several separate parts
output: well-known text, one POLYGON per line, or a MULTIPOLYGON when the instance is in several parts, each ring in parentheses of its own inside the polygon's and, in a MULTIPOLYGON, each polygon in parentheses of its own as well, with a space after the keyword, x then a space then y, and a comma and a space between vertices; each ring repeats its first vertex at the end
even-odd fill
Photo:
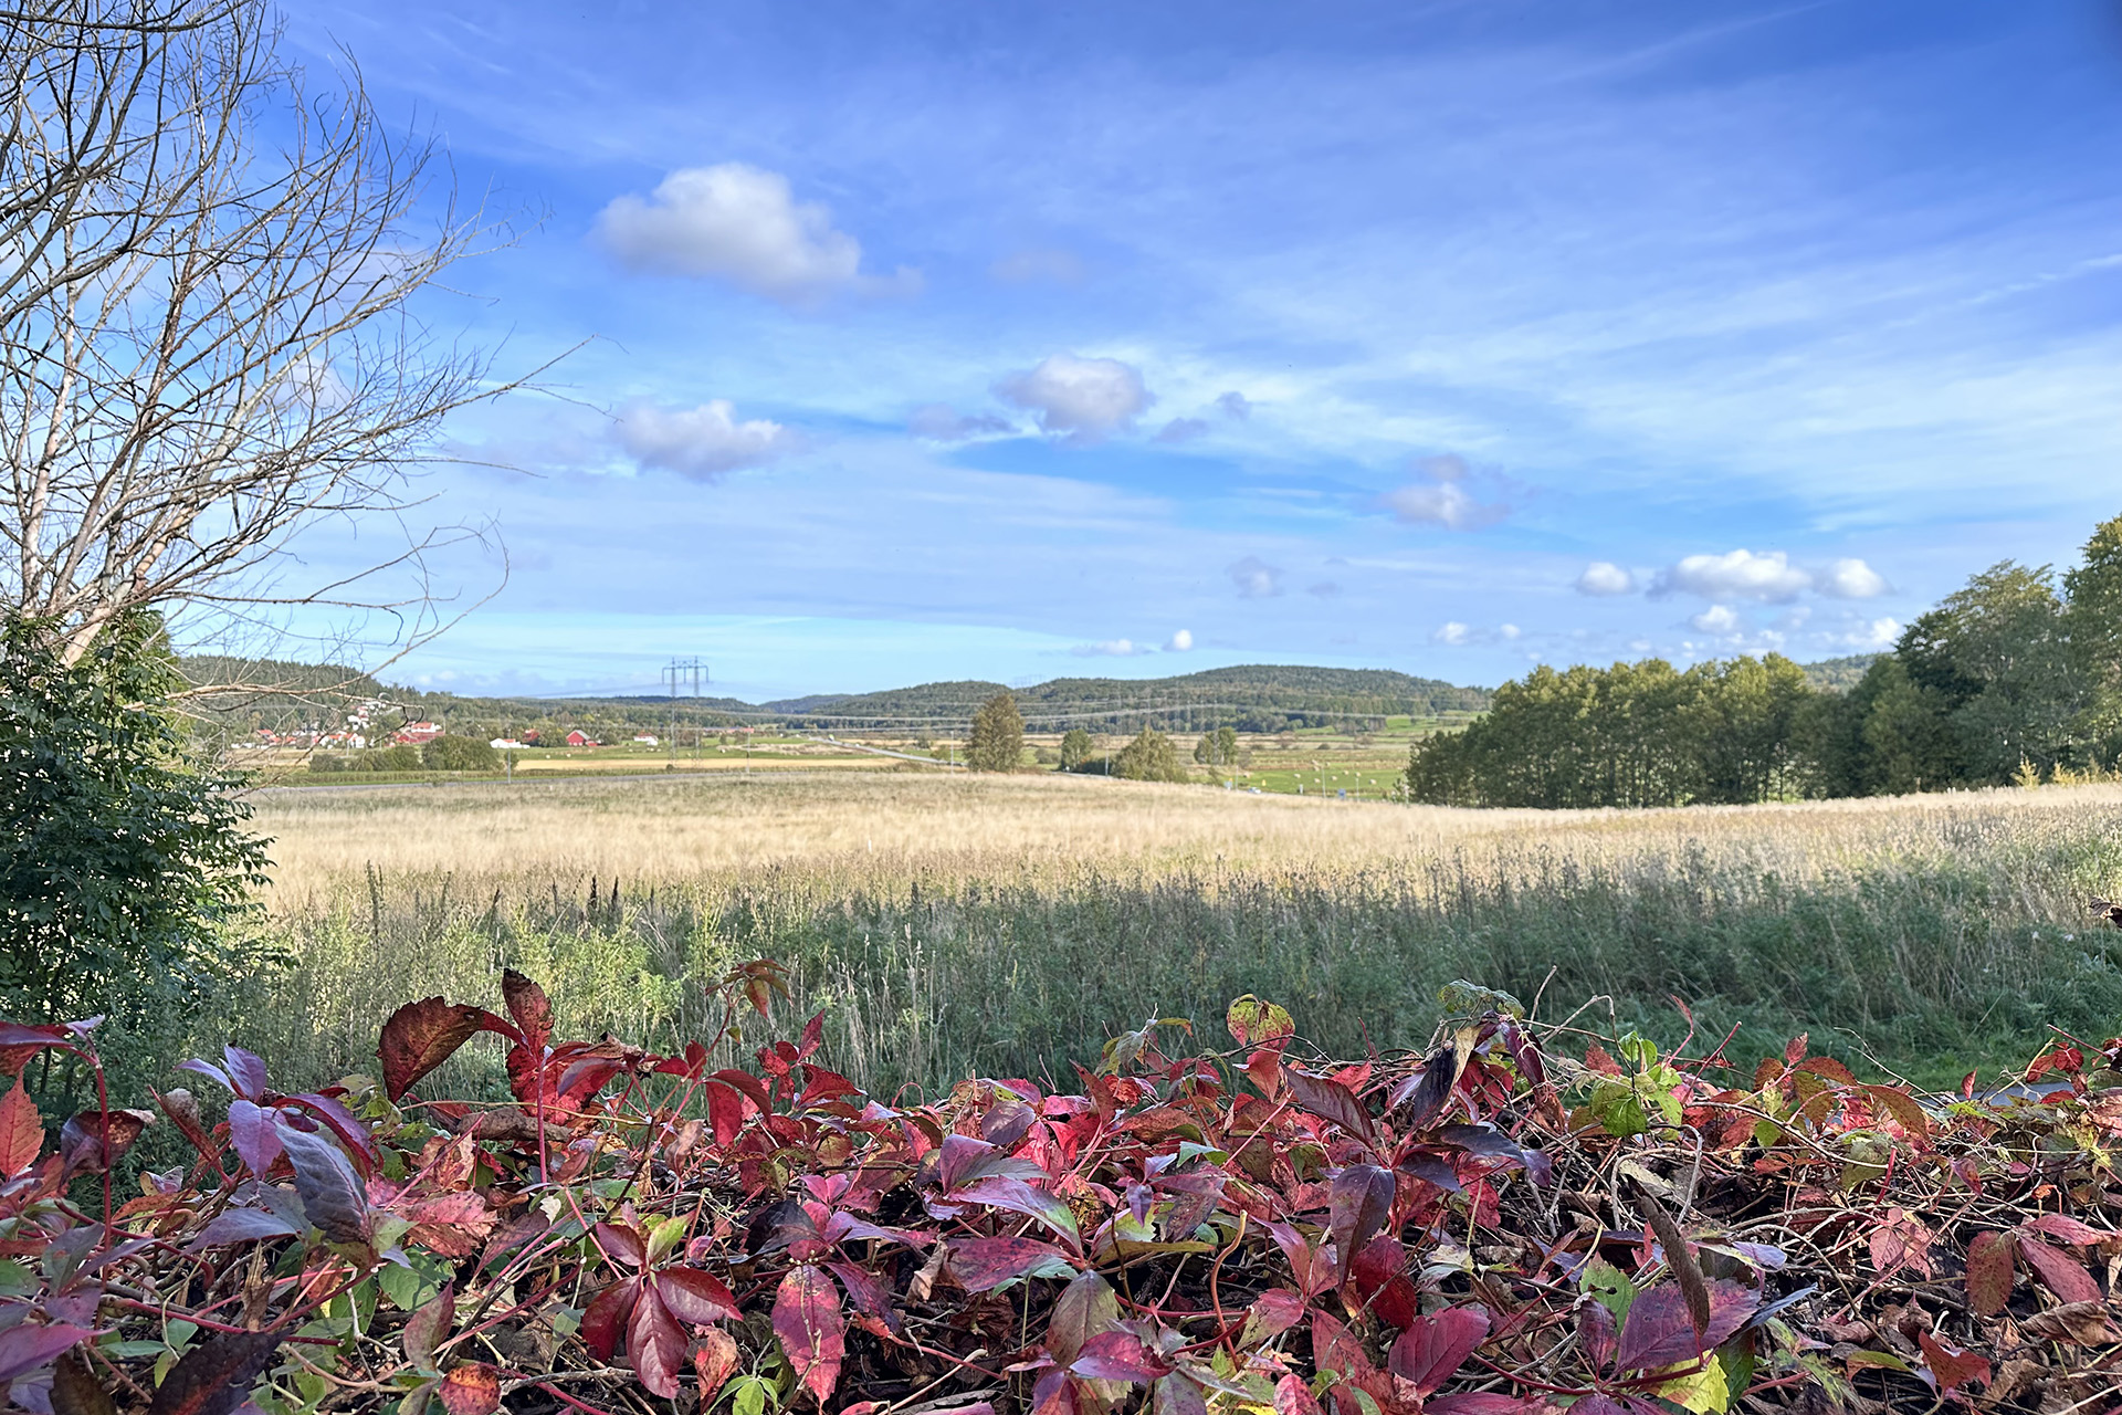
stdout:
POLYGON ((836 231, 817 202, 798 202, 789 180, 738 161, 679 168, 647 197, 628 193, 596 219, 596 238, 637 272, 711 276, 781 303, 813 303, 842 289, 912 286, 862 274, 862 244, 836 231))

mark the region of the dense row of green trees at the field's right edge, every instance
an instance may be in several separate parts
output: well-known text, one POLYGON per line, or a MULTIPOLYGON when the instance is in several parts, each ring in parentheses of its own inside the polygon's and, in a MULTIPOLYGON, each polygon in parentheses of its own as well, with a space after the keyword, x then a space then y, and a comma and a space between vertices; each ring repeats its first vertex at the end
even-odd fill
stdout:
POLYGON ((2122 757, 2122 518, 2060 577, 2012 560, 1920 615, 1848 692, 1770 653, 1536 668, 1420 743, 1411 800, 1681 806, 2073 781, 2122 757))

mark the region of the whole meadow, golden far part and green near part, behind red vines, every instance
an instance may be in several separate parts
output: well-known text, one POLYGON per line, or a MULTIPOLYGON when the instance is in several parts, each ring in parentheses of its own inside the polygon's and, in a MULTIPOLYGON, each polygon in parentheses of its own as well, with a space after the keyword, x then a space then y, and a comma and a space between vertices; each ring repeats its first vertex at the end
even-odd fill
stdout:
MULTIPOLYGON (((1925 1084, 2122 1023, 2122 789, 1679 810, 1449 810, 1055 774, 838 772, 259 793, 276 1067, 373 1067, 401 1001, 537 976, 562 1029, 700 1031, 734 961, 872 1090, 1069 1076, 1148 1018, 1286 1003, 1337 1054, 1422 1046, 1466 980, 1749 1061, 1925 1084)), ((219 1023, 214 1023, 219 1025, 219 1023)), ((711 1031, 711 1027, 709 1027, 711 1031)), ((452 1067, 492 1071, 480 1048, 452 1067)), ((460 1084, 490 1084, 465 1073, 460 1084)))

